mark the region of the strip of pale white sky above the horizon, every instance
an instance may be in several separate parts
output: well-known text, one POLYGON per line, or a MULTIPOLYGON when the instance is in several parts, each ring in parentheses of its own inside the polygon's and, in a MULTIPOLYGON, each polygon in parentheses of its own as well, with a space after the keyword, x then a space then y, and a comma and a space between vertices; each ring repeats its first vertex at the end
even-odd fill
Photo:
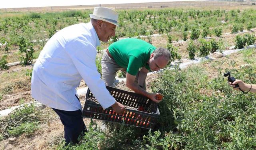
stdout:
MULTIPOLYGON (((2 0, 0 8, 26 8, 47 6, 75 6, 94 4, 124 4, 141 2, 175 2, 192 0, 2 0)), ((194 0, 193 0, 194 1, 194 0)))

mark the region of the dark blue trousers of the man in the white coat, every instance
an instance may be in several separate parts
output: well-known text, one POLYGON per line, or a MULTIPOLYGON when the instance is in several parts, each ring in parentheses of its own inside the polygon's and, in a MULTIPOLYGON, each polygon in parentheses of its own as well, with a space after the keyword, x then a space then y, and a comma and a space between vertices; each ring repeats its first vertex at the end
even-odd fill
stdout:
POLYGON ((69 143, 78 143, 78 137, 83 136, 84 132, 87 132, 86 126, 82 119, 81 110, 65 111, 54 109, 54 112, 60 116, 60 120, 64 125, 64 138, 65 145, 69 143))

